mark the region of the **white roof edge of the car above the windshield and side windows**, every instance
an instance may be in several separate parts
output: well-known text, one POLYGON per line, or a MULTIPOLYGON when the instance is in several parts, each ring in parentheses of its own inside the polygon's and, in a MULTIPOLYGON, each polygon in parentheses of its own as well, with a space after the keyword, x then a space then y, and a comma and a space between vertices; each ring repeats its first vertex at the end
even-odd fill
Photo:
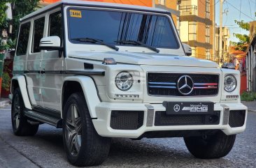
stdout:
POLYGON ((159 8, 150 8, 145 6, 133 6, 127 4, 119 4, 119 3, 105 3, 105 2, 97 2, 97 1, 78 1, 78 0, 62 0, 56 3, 52 3, 48 6, 45 6, 41 9, 30 13, 20 19, 20 21, 27 20, 29 17, 33 17, 34 15, 38 15, 40 13, 44 13, 46 10, 50 10, 51 8, 56 8, 60 5, 67 5, 67 6, 89 6, 95 8, 117 8, 117 9, 126 9, 126 10, 138 10, 138 11, 147 11, 152 13, 166 13, 170 14, 169 11, 159 8))

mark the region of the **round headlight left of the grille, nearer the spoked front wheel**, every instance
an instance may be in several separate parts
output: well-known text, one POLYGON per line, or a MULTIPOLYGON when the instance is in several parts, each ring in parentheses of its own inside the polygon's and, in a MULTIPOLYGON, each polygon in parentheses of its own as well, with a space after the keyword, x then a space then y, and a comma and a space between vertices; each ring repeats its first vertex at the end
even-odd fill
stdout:
POLYGON ((129 72, 122 71, 118 73, 115 77, 115 85, 121 91, 128 91, 131 89, 132 84, 134 83, 134 79, 129 72))

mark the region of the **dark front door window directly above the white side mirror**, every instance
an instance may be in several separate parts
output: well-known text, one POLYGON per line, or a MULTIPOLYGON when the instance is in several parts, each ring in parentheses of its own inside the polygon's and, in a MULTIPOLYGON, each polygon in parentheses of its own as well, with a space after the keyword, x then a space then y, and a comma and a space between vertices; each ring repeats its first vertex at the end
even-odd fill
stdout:
POLYGON ((62 13, 60 11, 52 13, 49 23, 49 36, 59 36, 62 40, 62 13))

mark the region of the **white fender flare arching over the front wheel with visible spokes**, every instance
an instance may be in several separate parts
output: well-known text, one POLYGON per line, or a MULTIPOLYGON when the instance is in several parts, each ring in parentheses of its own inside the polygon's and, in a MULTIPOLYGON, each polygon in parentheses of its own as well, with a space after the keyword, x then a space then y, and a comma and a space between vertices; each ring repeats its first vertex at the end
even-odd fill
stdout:
MULTIPOLYGON (((94 84, 94 81, 91 77, 87 76, 71 76, 71 77, 65 77, 64 82, 78 82, 83 89, 83 95, 85 96, 85 100, 87 103, 87 107, 90 112, 90 116, 92 119, 97 119, 96 114, 96 106, 99 105, 101 102, 98 97, 97 88, 94 84)), ((62 85, 62 93, 63 93, 63 86, 62 85)), ((62 105, 63 105, 63 98, 62 98, 62 105)), ((63 108, 62 108, 63 109, 63 108)))

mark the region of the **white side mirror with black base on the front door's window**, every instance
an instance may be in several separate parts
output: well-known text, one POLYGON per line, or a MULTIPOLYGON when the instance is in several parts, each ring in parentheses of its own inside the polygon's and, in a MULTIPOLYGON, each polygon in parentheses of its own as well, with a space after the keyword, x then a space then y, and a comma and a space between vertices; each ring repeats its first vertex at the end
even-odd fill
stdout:
POLYGON ((60 38, 58 36, 41 38, 39 48, 41 50, 58 50, 59 57, 62 57, 63 47, 60 46, 60 38))

